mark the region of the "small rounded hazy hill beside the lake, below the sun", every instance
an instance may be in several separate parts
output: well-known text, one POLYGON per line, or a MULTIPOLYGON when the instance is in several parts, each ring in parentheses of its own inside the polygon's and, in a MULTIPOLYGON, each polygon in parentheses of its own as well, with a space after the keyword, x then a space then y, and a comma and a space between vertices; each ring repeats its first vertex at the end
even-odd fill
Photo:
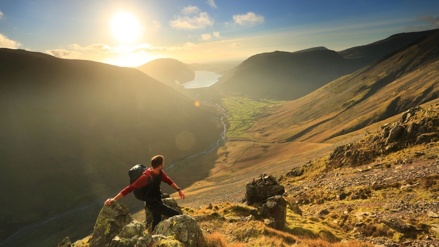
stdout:
POLYGON ((162 83, 179 88, 181 84, 194 80, 195 72, 186 64, 172 58, 159 58, 137 67, 148 76, 162 83))

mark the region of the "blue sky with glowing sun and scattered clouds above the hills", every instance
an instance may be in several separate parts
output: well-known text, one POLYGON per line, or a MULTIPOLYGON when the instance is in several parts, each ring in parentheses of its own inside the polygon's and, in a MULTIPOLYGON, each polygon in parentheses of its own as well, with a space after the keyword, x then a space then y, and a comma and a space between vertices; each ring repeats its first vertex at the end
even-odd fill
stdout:
POLYGON ((0 0, 0 47, 120 66, 341 51, 435 28, 438 0, 0 0))

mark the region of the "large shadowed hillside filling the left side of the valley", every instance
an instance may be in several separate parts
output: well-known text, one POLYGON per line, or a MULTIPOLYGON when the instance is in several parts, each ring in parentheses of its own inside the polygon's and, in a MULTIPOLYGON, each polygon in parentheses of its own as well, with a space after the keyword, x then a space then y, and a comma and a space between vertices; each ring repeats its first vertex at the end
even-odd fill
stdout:
POLYGON ((157 154, 166 165, 219 137, 216 113, 137 69, 0 49, 0 240, 102 200, 157 154))

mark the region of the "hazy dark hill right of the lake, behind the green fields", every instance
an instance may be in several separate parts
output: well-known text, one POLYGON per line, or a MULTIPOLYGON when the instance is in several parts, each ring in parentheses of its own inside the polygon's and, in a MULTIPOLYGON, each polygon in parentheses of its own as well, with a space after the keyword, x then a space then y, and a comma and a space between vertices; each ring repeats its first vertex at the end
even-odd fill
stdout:
POLYGON ((293 100, 353 71, 345 58, 324 47, 274 51, 248 58, 211 87, 251 98, 293 100))

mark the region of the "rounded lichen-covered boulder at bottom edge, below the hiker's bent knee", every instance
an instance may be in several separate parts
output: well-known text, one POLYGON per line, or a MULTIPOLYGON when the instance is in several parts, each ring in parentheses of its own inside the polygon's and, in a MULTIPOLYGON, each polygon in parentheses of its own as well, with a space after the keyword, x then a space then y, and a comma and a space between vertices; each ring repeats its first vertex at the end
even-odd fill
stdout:
POLYGON ((176 215, 158 223, 155 233, 170 236, 186 247, 198 247, 205 242, 200 226, 188 215, 176 215))

